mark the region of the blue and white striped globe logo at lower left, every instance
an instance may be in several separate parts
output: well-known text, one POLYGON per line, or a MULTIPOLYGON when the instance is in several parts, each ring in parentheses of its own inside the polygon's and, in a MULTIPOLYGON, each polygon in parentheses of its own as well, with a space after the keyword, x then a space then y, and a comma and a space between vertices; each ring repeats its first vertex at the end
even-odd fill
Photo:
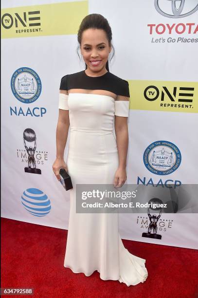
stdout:
POLYGON ((27 188, 21 195, 24 208, 35 216, 45 216, 51 210, 51 202, 47 195, 38 188, 27 188))

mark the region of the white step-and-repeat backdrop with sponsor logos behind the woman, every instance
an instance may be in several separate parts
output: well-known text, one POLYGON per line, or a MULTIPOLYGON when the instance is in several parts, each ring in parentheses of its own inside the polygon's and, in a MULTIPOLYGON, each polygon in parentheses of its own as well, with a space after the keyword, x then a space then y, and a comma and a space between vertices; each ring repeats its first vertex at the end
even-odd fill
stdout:
MULTIPOLYGON (((112 29, 109 71, 129 82, 126 183, 174 191, 198 182, 197 0, 4 0, 2 217, 68 229, 70 191, 52 170, 58 93, 62 76, 85 69, 77 31, 91 13, 112 29)), ((155 214, 158 237, 143 237, 152 213, 119 214, 121 237, 198 248, 196 212, 155 214)))

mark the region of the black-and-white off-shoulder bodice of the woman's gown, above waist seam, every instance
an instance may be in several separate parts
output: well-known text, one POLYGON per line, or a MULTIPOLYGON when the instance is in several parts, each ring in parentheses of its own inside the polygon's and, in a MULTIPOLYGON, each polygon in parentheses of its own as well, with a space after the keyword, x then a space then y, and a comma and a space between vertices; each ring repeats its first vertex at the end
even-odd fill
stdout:
MULTIPOLYGON (((85 71, 65 75, 60 90, 106 90, 129 97, 128 82, 111 74, 90 77, 85 71)), ((69 110, 71 131, 112 133, 114 116, 128 117, 129 100, 93 93, 59 93, 59 109, 69 110)))

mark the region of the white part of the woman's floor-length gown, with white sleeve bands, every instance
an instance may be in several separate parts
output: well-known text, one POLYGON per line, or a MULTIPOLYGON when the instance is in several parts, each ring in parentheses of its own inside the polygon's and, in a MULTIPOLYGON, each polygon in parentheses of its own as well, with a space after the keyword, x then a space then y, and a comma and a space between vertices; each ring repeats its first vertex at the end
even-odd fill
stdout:
POLYGON ((59 94, 59 109, 69 110, 67 158, 72 179, 70 218, 64 266, 74 273, 119 280, 127 286, 148 276, 145 259, 132 255, 119 235, 118 213, 76 213, 76 184, 113 184, 118 150, 113 134, 114 114, 128 115, 128 101, 107 95, 59 94))

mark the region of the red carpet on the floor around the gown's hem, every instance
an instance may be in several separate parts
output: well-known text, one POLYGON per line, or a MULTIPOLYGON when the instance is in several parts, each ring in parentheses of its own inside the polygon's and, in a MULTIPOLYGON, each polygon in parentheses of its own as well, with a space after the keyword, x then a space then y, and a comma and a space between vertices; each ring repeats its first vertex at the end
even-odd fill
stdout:
POLYGON ((86 277, 63 267, 66 239, 67 230, 1 218, 1 287, 34 288, 22 296, 29 298, 198 298, 195 249, 123 240, 148 270, 144 283, 127 287, 97 271, 86 277))

